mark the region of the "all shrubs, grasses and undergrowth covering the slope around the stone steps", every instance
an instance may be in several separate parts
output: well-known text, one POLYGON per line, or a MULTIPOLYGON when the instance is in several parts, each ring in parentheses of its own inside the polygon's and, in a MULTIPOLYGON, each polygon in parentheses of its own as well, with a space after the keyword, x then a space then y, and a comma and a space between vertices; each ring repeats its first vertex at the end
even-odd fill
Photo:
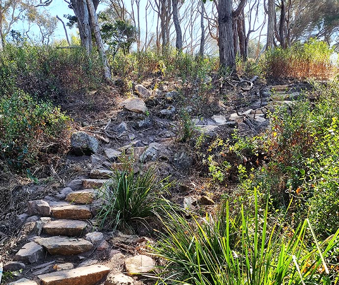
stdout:
MULTIPOLYGON (((0 192, 7 198, 0 213, 13 222, 25 207, 20 195, 46 194, 18 187, 64 186, 77 172, 64 167, 74 157, 71 133, 101 128, 99 135, 107 135, 101 126, 121 118, 122 98, 148 81, 152 92, 166 85, 164 92, 177 94, 164 99, 176 108, 172 148, 192 153, 193 163, 168 176, 162 161, 138 172, 126 156, 124 170, 104 191, 100 227, 135 233, 148 225, 158 284, 337 284, 339 77, 332 53, 311 39, 268 50, 257 61, 239 59, 232 73, 220 71, 216 57, 119 51, 108 57, 113 79, 107 82, 95 52, 9 43, 0 51, 0 192), (309 87, 293 104, 269 112, 264 128, 212 136, 192 121, 218 108, 242 113, 261 89, 299 83, 309 87), (180 206, 172 198, 185 183, 212 202, 180 206)), ((158 112, 153 97, 146 105, 154 114, 146 117, 158 112)), ((14 237, 11 227, 0 232, 14 237)))

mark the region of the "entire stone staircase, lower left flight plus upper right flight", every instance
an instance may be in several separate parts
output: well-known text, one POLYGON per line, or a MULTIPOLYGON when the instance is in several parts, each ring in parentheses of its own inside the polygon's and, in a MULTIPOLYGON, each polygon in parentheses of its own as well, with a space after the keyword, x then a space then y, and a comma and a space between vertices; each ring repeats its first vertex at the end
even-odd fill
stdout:
MULTIPOLYGON (((267 113, 283 105, 292 106, 293 100, 301 96, 302 89, 298 85, 271 86, 262 89, 257 101, 241 114, 237 112, 229 117, 215 115, 212 118, 194 119, 193 122, 206 133, 218 131, 224 125, 238 127, 239 130, 246 130, 246 125, 250 123, 267 125, 267 113)), ((13 261, 7 262, 4 267, 5 271, 22 270, 21 277, 24 278, 10 285, 95 285, 98 282, 105 285, 132 285, 136 280, 130 276, 155 270, 155 262, 151 257, 142 254, 125 256, 113 250, 114 245, 107 241, 107 235, 95 228, 94 217, 100 201, 96 198, 100 189, 110 182, 113 171, 122 170, 121 161, 126 158, 122 158, 122 153, 140 164, 147 160, 154 161, 162 148, 157 142, 147 147, 132 146, 127 145, 119 150, 104 149, 103 156, 92 155, 92 164, 99 165, 99 168, 94 167, 88 177, 72 180, 55 197, 28 201, 27 212, 17 219, 19 226, 31 228, 26 238, 28 242, 18 250, 13 261), (102 164, 102 157, 109 163, 102 164), (100 253, 105 253, 108 258, 100 258, 100 253), (121 261, 123 266, 118 271, 110 268, 110 264, 121 261)), ((134 171, 138 172, 138 167, 134 171)))

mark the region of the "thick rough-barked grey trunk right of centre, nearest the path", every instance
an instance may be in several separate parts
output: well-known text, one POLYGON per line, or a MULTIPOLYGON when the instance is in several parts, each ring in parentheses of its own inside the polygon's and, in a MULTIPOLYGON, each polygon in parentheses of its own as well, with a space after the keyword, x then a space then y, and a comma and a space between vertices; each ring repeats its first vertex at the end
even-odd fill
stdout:
POLYGON ((219 0, 219 58, 220 68, 235 67, 233 43, 232 0, 219 0))

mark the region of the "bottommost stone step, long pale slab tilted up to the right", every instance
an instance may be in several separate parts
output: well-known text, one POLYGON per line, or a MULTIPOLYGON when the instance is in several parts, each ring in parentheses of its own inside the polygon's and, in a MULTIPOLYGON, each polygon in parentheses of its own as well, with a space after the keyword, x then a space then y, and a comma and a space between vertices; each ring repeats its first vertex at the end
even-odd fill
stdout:
POLYGON ((103 265, 91 265, 38 275, 41 285, 95 285, 110 273, 103 265))

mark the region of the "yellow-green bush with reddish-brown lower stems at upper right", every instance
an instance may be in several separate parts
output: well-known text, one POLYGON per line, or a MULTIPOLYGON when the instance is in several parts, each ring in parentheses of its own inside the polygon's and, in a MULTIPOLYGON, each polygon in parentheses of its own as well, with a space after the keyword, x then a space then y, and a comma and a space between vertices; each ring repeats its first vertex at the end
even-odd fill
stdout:
POLYGON ((333 52, 327 43, 311 38, 289 49, 266 52, 261 65, 267 75, 274 78, 329 79, 335 72, 330 59, 333 52))

